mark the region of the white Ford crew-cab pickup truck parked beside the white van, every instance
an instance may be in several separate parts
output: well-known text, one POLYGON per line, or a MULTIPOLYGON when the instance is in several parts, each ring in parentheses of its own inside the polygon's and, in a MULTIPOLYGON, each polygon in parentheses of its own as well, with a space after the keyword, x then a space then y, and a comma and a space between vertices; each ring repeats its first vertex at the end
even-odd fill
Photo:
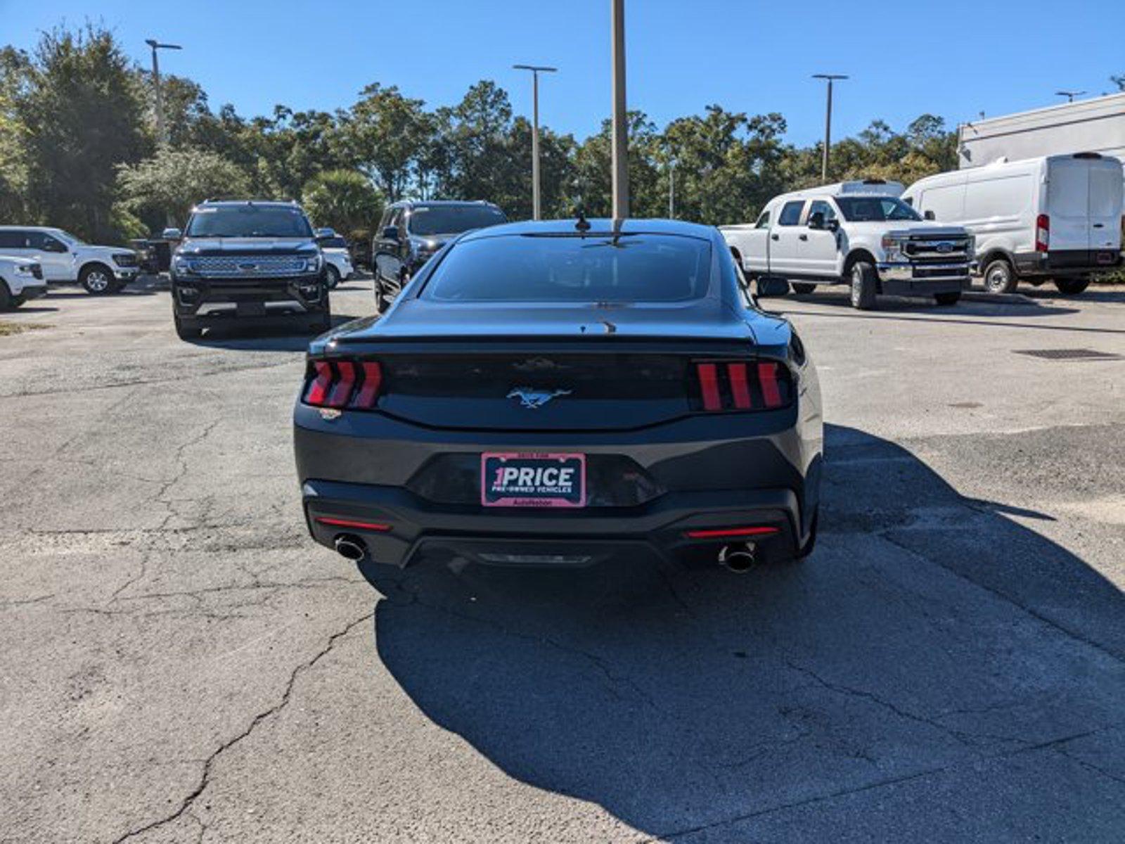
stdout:
POLYGON ((828 185, 783 194, 756 222, 719 228, 759 293, 770 282, 794 293, 847 284, 861 309, 879 294, 954 305, 969 287, 973 237, 922 219, 901 192, 898 182, 874 179, 828 185))

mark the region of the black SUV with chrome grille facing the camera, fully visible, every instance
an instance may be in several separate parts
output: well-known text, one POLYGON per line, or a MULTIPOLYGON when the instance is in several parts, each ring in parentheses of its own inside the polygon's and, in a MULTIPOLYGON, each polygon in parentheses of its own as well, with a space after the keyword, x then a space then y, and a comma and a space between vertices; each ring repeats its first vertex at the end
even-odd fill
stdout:
MULTIPOLYGON (((171 228, 165 236, 180 240, 171 228)), ((182 340, 231 324, 331 327, 324 257, 296 203, 205 201, 172 255, 172 315, 182 340)))

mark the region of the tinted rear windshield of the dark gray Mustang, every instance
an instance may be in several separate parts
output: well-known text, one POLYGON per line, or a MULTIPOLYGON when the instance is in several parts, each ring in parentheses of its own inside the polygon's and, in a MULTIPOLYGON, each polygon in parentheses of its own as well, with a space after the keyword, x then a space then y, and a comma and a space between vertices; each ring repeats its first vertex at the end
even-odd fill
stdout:
POLYGON ((706 293, 711 244, 626 234, 459 243, 422 295, 450 302, 682 302, 706 293))

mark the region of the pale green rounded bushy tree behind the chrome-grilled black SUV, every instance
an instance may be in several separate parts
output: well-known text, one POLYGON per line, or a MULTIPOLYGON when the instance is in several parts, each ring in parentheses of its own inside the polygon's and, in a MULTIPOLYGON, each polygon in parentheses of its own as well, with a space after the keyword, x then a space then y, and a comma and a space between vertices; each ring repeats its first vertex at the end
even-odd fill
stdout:
POLYGON ((183 225, 196 203, 208 197, 245 195, 245 174, 223 156, 204 150, 161 146, 136 164, 120 164, 122 207, 159 230, 165 218, 183 225))

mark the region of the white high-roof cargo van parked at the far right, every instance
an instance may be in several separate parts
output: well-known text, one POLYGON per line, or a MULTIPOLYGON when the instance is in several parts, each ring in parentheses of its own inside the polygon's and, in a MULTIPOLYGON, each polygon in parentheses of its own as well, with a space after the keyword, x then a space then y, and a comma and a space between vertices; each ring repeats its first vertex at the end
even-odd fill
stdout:
POLYGON ((998 161, 921 179, 902 194, 928 219, 976 236, 984 287, 1023 279, 1078 294, 1122 262, 1122 162, 1099 153, 998 161))

